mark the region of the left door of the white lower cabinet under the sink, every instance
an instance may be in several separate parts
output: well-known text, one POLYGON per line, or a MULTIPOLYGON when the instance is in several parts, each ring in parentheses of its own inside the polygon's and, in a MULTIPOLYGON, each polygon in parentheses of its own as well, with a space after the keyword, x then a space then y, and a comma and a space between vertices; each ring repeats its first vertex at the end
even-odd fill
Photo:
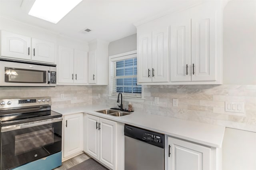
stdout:
POLYGON ((99 129, 98 124, 100 123, 100 118, 86 115, 86 126, 87 126, 87 152, 90 156, 99 160, 99 129))

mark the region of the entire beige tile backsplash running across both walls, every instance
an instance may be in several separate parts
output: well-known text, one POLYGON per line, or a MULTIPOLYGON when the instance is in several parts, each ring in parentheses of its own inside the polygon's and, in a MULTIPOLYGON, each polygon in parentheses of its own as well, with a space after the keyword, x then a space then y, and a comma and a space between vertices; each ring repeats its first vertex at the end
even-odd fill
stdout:
MULTIPOLYGON (((106 85, 0 87, 0 99, 41 96, 52 98, 52 109, 89 104, 117 107, 118 104, 116 99, 108 98, 106 85)), ((145 85, 144 99, 132 101, 133 110, 149 116, 161 115, 256 132, 256 85, 145 85), (159 97, 158 104, 154 104, 154 97, 159 97), (172 106, 172 99, 178 99, 178 107, 172 106), (244 102, 245 113, 225 112, 225 101, 244 102)), ((128 108, 128 103, 129 100, 124 99, 124 108, 128 108)))

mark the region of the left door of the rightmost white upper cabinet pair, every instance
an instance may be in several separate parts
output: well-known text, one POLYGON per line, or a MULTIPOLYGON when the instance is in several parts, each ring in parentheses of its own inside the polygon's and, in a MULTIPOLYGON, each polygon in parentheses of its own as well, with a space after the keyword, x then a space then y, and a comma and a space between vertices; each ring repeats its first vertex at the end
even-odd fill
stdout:
POLYGON ((180 18, 170 26, 171 81, 191 81, 191 20, 180 18))

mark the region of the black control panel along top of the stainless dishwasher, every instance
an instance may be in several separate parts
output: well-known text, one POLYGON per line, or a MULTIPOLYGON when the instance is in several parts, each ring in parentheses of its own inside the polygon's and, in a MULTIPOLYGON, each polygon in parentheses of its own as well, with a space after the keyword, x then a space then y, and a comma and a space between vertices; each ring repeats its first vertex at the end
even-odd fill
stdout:
POLYGON ((164 148, 164 134, 153 132, 131 125, 124 125, 124 135, 141 140, 148 144, 164 148))

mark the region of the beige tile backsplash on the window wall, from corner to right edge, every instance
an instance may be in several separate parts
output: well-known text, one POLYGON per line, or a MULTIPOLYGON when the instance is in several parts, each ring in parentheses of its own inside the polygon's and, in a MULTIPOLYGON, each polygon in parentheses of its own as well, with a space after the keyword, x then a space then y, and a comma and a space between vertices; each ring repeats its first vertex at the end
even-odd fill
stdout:
MULTIPOLYGON (((145 85, 144 98, 132 102, 135 111, 256 132, 256 85, 145 85), (154 97, 159 97, 158 104, 154 97), (172 99, 178 99, 178 107, 172 99), (245 113, 226 112, 225 101, 244 102, 245 113)), ((124 99, 124 108, 128 103, 124 99)), ((108 86, 92 86, 92 104, 118 103, 108 98, 108 86)))

